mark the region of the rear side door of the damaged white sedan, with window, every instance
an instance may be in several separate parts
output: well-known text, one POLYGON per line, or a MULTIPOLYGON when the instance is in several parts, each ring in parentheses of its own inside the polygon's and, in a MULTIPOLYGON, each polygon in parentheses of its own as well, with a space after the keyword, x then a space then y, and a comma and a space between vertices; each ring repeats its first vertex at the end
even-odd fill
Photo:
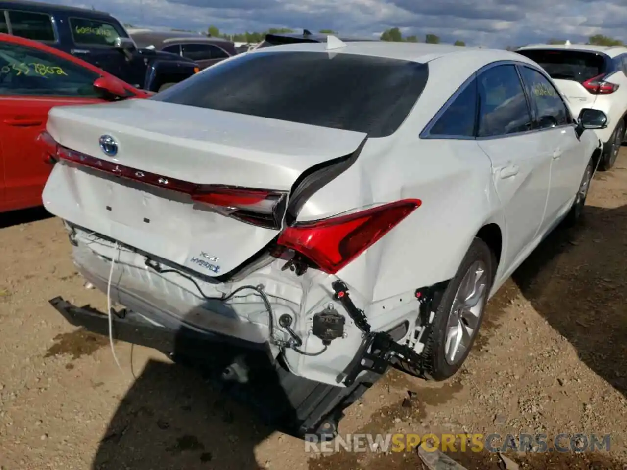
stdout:
POLYGON ((529 102, 514 64, 477 76, 477 144, 492 161, 492 177, 506 224, 502 263, 516 264, 534 242, 544 219, 551 156, 534 130, 529 102))

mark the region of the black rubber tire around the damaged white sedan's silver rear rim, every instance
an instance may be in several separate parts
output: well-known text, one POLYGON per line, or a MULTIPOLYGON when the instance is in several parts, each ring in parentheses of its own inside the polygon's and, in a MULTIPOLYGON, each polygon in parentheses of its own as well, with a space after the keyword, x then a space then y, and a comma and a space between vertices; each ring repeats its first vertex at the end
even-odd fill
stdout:
MULTIPOLYGON (((473 239, 470 248, 468 248, 466 255, 461 261, 455 277, 451 279, 450 283, 446 287, 433 321, 429 326, 427 326, 427 329, 424 332, 424 337, 426 339, 424 340, 424 348, 421 353, 421 357, 423 357, 421 369, 423 370, 423 376, 425 379, 435 380, 438 382, 449 379, 455 375, 461 365, 465 362, 466 357, 468 357, 468 353, 470 353, 470 350, 475 343, 477 332, 483 321, 483 313, 485 311, 485 305, 487 304, 488 295, 492 289, 496 268, 497 260, 492 250, 482 239, 473 239), (470 333, 469 337, 466 338, 467 344, 465 350, 463 350, 463 352, 460 351, 458 355, 451 360, 451 358, 447 358, 446 354, 447 324, 449 320, 453 320, 455 318, 453 316, 456 315, 453 312, 453 303, 456 302, 456 295, 458 291, 460 291, 460 288, 463 289, 462 282, 465 281, 466 274, 469 274, 471 269, 474 270, 475 266, 478 266, 478 264, 483 266, 482 276, 484 282, 482 282, 482 284, 485 283, 485 286, 483 287, 483 294, 477 303, 477 307, 475 308, 475 328, 473 328, 473 332, 470 333)), ((470 315, 470 313, 468 313, 468 315, 470 315)), ((468 315, 465 317, 467 318, 468 315)), ((460 326, 461 323, 458 328, 460 326)), ((463 326, 461 326, 461 328, 463 328, 463 326)))

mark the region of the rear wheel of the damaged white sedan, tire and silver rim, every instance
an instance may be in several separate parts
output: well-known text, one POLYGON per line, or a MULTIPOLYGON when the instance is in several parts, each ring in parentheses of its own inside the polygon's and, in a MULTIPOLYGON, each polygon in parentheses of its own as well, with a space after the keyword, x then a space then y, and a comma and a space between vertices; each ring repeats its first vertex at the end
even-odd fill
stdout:
POLYGON ((492 250, 475 238, 424 332, 421 370, 425 379, 446 380, 465 362, 483 320, 496 267, 492 250))

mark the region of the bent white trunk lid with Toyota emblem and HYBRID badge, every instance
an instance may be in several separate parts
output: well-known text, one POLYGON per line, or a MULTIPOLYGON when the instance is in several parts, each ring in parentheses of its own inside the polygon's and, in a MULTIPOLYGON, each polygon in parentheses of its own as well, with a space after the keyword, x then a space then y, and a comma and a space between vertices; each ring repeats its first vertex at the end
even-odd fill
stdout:
POLYGON ((209 277, 255 258, 278 236, 299 177, 366 138, 151 100, 54 108, 47 128, 62 149, 48 211, 209 277), (103 152, 103 135, 117 153, 103 152), (250 217, 268 207, 278 220, 250 217))

